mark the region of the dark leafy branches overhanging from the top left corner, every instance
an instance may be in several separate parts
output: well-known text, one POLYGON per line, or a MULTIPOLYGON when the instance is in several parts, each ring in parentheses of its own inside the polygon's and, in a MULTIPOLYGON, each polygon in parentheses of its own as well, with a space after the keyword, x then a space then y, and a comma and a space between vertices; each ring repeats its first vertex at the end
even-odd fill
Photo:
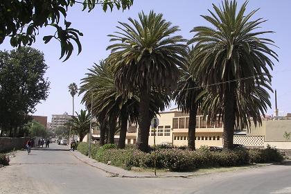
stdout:
POLYGON ((97 4, 106 12, 107 8, 113 10, 114 6, 119 10, 125 10, 132 6, 133 0, 26 0, 26 1, 0 1, 0 44, 6 37, 10 37, 11 46, 31 45, 35 42, 38 31, 42 27, 55 28, 54 35, 44 36, 44 43, 52 38, 58 39, 61 46, 61 57, 67 55, 67 60, 73 52, 73 44, 78 45, 78 53, 82 51, 79 30, 71 28, 71 22, 67 21, 67 11, 82 3, 83 9, 90 12, 97 4))

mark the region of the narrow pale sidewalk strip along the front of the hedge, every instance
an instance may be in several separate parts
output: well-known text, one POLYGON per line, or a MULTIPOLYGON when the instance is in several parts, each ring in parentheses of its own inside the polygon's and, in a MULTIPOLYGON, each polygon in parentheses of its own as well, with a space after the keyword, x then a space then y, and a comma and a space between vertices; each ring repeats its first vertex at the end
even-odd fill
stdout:
POLYGON ((100 163, 96 161, 95 159, 91 159, 85 155, 82 155, 78 151, 75 151, 75 152, 70 151, 70 152, 74 157, 84 162, 85 164, 88 164, 90 166, 103 170, 106 173, 109 173, 110 177, 143 177, 143 178, 145 177, 190 177, 190 176, 195 176, 195 175, 209 174, 209 173, 198 174, 198 173, 157 172, 157 176, 155 176, 154 172, 134 172, 134 171, 124 170, 123 168, 118 168, 116 166, 100 163))

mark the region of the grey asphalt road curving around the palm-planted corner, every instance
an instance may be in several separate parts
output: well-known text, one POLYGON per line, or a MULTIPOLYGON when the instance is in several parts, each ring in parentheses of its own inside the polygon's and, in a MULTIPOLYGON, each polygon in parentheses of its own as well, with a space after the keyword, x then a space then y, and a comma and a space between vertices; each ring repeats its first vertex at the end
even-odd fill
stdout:
POLYGON ((0 168, 0 193, 291 193, 291 164, 191 178, 108 177, 55 143, 19 151, 10 164, 0 168))

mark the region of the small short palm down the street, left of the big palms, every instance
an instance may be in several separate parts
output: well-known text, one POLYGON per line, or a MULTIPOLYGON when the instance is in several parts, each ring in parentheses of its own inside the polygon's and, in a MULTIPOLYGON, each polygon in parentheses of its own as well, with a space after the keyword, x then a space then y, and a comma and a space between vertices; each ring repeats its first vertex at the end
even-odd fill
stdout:
POLYGON ((91 116, 90 113, 86 112, 86 110, 80 111, 80 114, 76 112, 77 116, 73 116, 71 118, 71 126, 72 130, 78 134, 80 137, 80 141, 84 139, 84 136, 88 133, 89 128, 90 128, 90 121, 91 121, 91 116))

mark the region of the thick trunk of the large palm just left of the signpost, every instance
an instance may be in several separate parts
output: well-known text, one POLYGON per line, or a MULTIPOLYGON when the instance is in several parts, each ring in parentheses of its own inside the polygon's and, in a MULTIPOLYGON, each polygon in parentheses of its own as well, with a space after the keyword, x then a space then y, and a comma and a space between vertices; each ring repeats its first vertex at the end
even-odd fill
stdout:
POLYGON ((136 141, 136 148, 148 152, 148 135, 150 133, 150 94, 145 89, 141 91, 139 103, 139 132, 136 141))

